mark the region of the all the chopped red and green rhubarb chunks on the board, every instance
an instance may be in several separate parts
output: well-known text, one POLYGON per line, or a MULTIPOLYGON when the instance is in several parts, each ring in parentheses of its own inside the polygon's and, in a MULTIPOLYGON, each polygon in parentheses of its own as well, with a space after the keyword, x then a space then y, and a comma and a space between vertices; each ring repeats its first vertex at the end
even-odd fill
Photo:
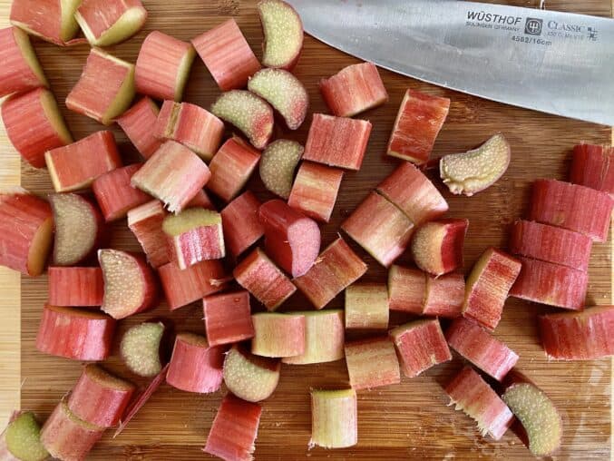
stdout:
MULTIPOLYGON (((509 252, 485 250, 465 280, 469 221, 443 217, 448 204, 423 172, 434 164, 450 100, 407 90, 387 148, 401 163, 341 225, 389 270, 387 282, 361 283, 365 262, 341 234, 322 250, 320 225, 330 220, 344 174, 363 162, 371 123, 352 117, 388 100, 384 83, 374 64, 342 69, 320 83, 330 114, 313 114, 306 145, 271 142, 276 123, 296 130, 307 117, 307 91, 291 73, 303 28, 283 1, 262 0, 258 13, 262 64, 234 19, 191 43, 152 32, 131 64, 100 47, 141 29, 147 11, 139 0, 14 0, 14 26, 0 31, 2 119, 24 161, 47 168, 55 193, 0 194, 0 263, 32 277, 46 270, 36 348, 92 363, 42 429, 32 413, 15 413, 0 439, 2 459, 83 459, 164 382, 195 393, 216 392, 223 382, 228 394, 204 451, 252 459, 258 402, 275 391, 281 363, 344 358, 349 388, 311 390, 310 445, 355 446, 356 391, 418 376, 451 360, 451 348, 467 366, 444 390, 482 436, 500 439, 513 424, 535 456, 554 453, 562 436, 557 408, 492 332, 513 296, 569 310, 538 319, 549 358, 614 354, 614 308, 584 309, 591 245, 608 238, 614 149, 578 145, 570 182, 535 181, 527 220, 512 224, 509 252), (75 38, 79 29, 84 38, 75 38), (66 107, 117 123, 144 162, 123 165, 111 131, 73 141, 28 34, 93 46, 66 107), (181 101, 197 54, 222 92, 209 111, 181 101), (227 124, 240 135, 224 141, 227 124), (278 199, 261 203, 244 190, 257 169, 278 199), (107 248, 108 225, 121 220, 141 253, 107 248), (406 252, 414 268, 395 265, 406 252), (297 289, 314 309, 283 313, 297 289), (345 309, 324 309, 342 292, 345 309), (126 368, 151 378, 136 393, 93 362, 109 357, 118 321, 161 299, 171 310, 201 302, 206 337, 178 333, 169 358, 164 319, 129 329, 120 347, 126 368), (255 301, 264 312, 252 313, 255 301), (389 329, 391 310, 417 319, 389 329), (346 342, 350 329, 371 334, 346 342)), ((510 158, 495 133, 435 163, 450 191, 471 196, 497 181, 510 158)))

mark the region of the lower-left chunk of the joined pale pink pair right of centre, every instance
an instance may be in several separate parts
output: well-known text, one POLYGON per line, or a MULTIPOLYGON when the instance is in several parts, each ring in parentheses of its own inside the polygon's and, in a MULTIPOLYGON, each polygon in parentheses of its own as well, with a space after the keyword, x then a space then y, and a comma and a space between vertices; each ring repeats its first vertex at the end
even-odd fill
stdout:
POLYGON ((409 246, 414 223, 390 201, 371 192, 341 224, 341 229, 388 268, 409 246))

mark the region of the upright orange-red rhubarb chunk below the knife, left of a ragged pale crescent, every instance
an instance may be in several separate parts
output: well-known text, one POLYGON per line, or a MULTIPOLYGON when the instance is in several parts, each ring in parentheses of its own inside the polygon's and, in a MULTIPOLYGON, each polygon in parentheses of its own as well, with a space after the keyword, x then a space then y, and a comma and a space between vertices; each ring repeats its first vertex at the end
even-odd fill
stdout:
POLYGON ((426 163, 449 110, 448 98, 407 90, 390 135, 388 155, 417 165, 426 163))

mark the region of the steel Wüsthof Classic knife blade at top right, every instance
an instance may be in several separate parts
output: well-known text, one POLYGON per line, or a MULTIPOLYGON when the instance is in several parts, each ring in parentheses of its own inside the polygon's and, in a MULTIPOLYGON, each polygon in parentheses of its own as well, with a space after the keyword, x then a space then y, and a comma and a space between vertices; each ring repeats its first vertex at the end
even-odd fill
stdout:
POLYGON ((614 20, 457 0, 288 0, 318 40, 427 83, 614 125, 614 20))

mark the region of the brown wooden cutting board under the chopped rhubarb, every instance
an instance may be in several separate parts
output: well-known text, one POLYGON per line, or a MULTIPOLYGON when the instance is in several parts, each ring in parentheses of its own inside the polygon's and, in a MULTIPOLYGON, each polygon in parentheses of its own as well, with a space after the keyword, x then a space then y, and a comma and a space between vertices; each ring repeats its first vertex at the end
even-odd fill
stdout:
MULTIPOLYGON (((9 3, 0 1, 0 17, 5 22, 9 3)), ((515 0, 514 5, 535 6, 537 0, 515 0)), ((143 37, 152 30, 161 30, 182 40, 210 29, 233 16, 247 36, 258 56, 261 55, 262 34, 255 14, 255 2, 236 0, 184 0, 169 2, 145 0, 150 12, 145 30, 126 44, 111 49, 123 59, 135 62, 143 37)), ((611 16, 610 0, 552 0, 546 6, 554 10, 591 15, 611 16)), ((326 14, 326 12, 323 12, 326 14)), ((67 111, 63 105, 66 94, 81 73, 87 46, 60 49, 50 44, 36 43, 36 50, 44 65, 54 93, 62 105, 63 114, 77 139, 102 129, 88 118, 67 111)), ((320 78, 335 74, 356 59, 342 54, 311 37, 306 37, 304 53, 296 69, 297 76, 307 85, 313 112, 325 112, 326 107, 317 90, 320 78)), ((482 72, 476 69, 476 72, 482 72)), ((324 243, 336 237, 339 224, 362 201, 367 191, 391 172, 397 161, 385 157, 385 144, 395 120, 404 91, 411 86, 420 91, 443 95, 452 99, 447 123, 443 127, 434 153, 437 156, 461 152, 486 140, 493 132, 503 132, 512 143, 512 163, 501 181, 473 198, 453 197, 444 191, 451 205, 451 217, 470 220, 465 244, 465 272, 489 245, 505 247, 509 224, 527 209, 531 181, 538 178, 565 180, 570 164, 571 147, 579 142, 609 143, 610 129, 560 117, 522 110, 500 103, 492 103, 432 85, 420 83, 387 71, 381 72, 390 101, 384 106, 362 115, 373 123, 365 162, 360 172, 348 172, 341 186, 333 219, 324 228, 324 243)), ((103 83, 101 83, 103 84, 103 83)), ((219 91, 204 65, 197 59, 194 65, 186 100, 209 107, 219 91)), ((596 96, 595 103, 599 103, 596 96)), ((290 136, 305 142, 307 123, 290 136)), ((126 162, 136 159, 134 151, 122 132, 113 128, 122 143, 126 162)), ((278 136, 288 133, 278 130, 278 136)), ((2 138, 2 152, 13 152, 2 138)), ((52 191, 44 170, 22 165, 21 182, 36 193, 52 191)), ((437 182, 443 191, 442 184, 437 182)), ((250 188, 267 199, 258 180, 250 188)), ((112 246, 123 250, 139 250, 136 240, 127 230, 125 221, 114 226, 112 246)), ((347 239, 347 241, 350 241, 347 239)), ((366 281, 384 281, 385 270, 351 242, 369 265, 366 281)), ((589 304, 609 304, 611 293, 611 240, 594 246, 590 264, 589 304)), ((408 258, 401 262, 409 263, 408 258)), ((3 287, 3 294, 10 287, 3 287)), ((76 382, 81 364, 62 358, 44 356, 34 348, 41 309, 47 293, 46 277, 24 278, 21 281, 21 407, 33 409, 47 416, 56 402, 76 382)), ((5 295, 10 296, 10 295, 5 295)), ((6 299, 5 299, 6 301, 6 299)), ((10 302, 10 299, 9 299, 10 302)), ((6 302, 5 302, 6 303, 6 302)), ((343 306, 337 297, 330 308, 343 306)), ((8 308, 7 308, 8 309, 8 308)), ((15 309, 15 306, 13 307, 15 309)), ((258 308, 259 309, 259 308, 258 308)), ((299 296, 289 300, 284 309, 311 309, 299 296)), ((587 363, 551 362, 544 357, 535 328, 537 314, 551 311, 536 304, 509 299, 496 336, 518 352, 518 367, 535 380, 560 408, 565 430, 560 458, 607 458, 610 454, 610 386, 609 359, 587 363)), ((200 304, 193 304, 169 313, 165 305, 151 312, 121 322, 118 338, 135 323, 153 316, 168 316, 177 330, 203 333, 200 304)), ((406 320, 393 316, 393 323, 406 320)), ((3 361, 11 350, 3 346, 3 361)), ((359 392, 359 444, 335 451, 313 449, 307 451, 310 436, 309 389, 311 387, 339 387, 347 384, 343 361, 331 364, 291 367, 283 366, 276 393, 263 404, 263 414, 256 443, 257 459, 517 459, 531 457, 529 451, 511 432, 499 442, 482 438, 475 424, 462 413, 447 407, 443 393, 461 360, 433 368, 423 376, 404 378, 397 386, 359 392)), ((131 377, 114 350, 105 366, 118 374, 131 377)), ((134 379, 139 385, 144 381, 134 379)), ((224 391, 210 396, 180 392, 168 386, 151 398, 141 413, 117 438, 109 431, 94 449, 92 459, 201 459, 200 452, 224 391)))

